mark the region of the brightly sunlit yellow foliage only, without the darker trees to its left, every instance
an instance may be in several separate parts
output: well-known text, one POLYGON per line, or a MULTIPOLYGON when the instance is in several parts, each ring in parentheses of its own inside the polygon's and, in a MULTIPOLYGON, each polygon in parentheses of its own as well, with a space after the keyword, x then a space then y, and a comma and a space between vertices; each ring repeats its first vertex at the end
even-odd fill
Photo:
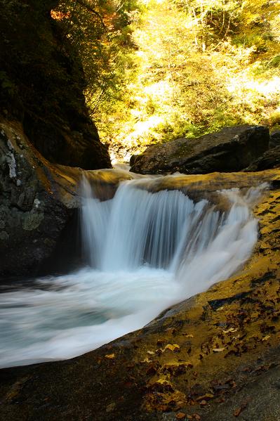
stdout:
POLYGON ((280 4, 265 0, 142 0, 133 70, 97 113, 111 145, 198 136, 234 124, 279 124, 280 4))

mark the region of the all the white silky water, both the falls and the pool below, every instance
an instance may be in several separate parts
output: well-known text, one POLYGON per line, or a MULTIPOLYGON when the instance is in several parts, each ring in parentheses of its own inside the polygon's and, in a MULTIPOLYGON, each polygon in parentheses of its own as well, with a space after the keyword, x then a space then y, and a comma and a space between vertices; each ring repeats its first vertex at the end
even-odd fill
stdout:
POLYGON ((220 191, 228 202, 222 212, 178 190, 152 193, 152 182, 125 181, 102 201, 84 180, 88 266, 1 294, 1 367, 95 349, 228 278, 250 257, 258 235, 250 207, 263 186, 246 195, 220 191))

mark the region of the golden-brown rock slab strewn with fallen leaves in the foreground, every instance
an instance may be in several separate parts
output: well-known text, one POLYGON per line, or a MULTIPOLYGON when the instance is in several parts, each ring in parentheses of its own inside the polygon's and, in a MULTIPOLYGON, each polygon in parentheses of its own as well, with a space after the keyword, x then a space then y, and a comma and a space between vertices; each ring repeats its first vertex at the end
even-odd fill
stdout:
POLYGON ((280 171, 258 175, 274 183, 243 269, 84 356, 0 370, 1 419, 279 421, 280 171))

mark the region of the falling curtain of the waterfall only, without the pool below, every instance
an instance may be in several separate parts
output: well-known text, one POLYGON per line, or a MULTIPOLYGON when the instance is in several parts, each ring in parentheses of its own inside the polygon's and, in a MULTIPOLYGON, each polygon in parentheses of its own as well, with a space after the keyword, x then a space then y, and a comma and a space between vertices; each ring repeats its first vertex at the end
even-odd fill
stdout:
POLYGON ((244 196, 239 189, 220 191, 228 212, 179 190, 151 193, 145 186, 145 180, 125 181, 112 200, 102 201, 84 179, 84 249, 93 268, 164 268, 189 297, 229 278, 250 257, 258 235, 250 204, 263 185, 244 196))

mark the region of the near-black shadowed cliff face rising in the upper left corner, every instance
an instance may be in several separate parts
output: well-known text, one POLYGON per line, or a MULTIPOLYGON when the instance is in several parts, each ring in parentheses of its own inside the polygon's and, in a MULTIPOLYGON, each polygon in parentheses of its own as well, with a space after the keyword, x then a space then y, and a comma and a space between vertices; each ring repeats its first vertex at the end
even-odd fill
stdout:
POLYGON ((88 116, 78 53, 65 24, 51 18, 57 3, 0 0, 0 112, 21 122, 29 140, 51 162, 111 167, 88 116))

